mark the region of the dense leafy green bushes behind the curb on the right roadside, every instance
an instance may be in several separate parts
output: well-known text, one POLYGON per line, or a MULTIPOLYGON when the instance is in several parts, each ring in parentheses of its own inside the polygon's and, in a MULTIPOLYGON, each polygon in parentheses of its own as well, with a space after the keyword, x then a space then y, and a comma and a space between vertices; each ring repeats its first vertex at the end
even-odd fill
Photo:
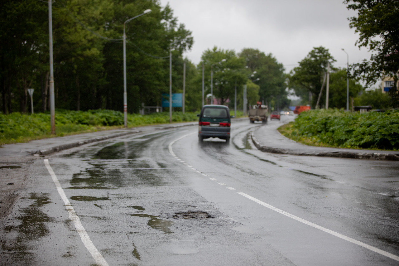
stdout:
POLYGON ((397 150, 399 111, 306 111, 295 119, 291 135, 294 134, 331 147, 397 150))

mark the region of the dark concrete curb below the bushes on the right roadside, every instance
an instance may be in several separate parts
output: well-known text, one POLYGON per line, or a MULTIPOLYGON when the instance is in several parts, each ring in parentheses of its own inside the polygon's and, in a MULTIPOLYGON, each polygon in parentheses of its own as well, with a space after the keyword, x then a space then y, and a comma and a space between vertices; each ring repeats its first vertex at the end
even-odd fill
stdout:
POLYGON ((399 161, 399 155, 391 153, 362 153, 354 151, 334 151, 334 152, 320 152, 320 153, 301 153, 296 151, 290 151, 286 149, 272 148, 263 146, 255 137, 253 131, 251 131, 251 139, 253 144, 259 149, 259 151, 267 153, 278 153, 278 154, 289 154, 289 155, 301 155, 301 156, 319 156, 319 157, 338 157, 338 158, 351 158, 351 159, 374 159, 374 160, 387 160, 387 161, 399 161))

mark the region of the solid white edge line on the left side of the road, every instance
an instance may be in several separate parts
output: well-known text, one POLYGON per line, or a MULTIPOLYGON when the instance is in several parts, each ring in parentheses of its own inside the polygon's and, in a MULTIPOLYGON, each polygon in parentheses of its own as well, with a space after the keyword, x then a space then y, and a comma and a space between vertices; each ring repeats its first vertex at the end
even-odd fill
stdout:
POLYGON ((83 244, 89 250, 91 256, 93 256, 96 264, 100 266, 108 266, 107 261, 101 255, 101 253, 97 250, 97 248, 94 246, 93 242, 91 242, 89 235, 87 234, 85 228, 83 227, 82 223, 80 222, 79 217, 77 216, 75 210, 73 209, 71 202, 69 202, 67 196, 65 195, 65 192, 63 191, 61 184, 59 183, 57 176, 55 175, 53 169, 50 166, 49 160, 44 159, 44 164, 47 168, 47 171, 49 171, 51 178, 53 179, 53 182, 55 184, 55 187, 57 188, 58 194, 61 196, 61 199, 64 201, 65 208, 67 209, 69 213, 69 219, 75 224, 75 228, 77 232, 79 233, 80 238, 82 239, 83 244))

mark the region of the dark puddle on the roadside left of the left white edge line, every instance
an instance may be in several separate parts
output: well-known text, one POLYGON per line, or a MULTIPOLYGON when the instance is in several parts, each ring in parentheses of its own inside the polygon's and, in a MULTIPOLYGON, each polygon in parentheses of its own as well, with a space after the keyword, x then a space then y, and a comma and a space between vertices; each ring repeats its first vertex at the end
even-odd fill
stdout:
POLYGON ((35 252, 31 252, 30 250, 36 249, 36 247, 30 244, 30 241, 39 240, 41 237, 49 234, 50 231, 47 229, 46 224, 54 222, 40 208, 45 204, 51 203, 48 193, 31 193, 28 199, 35 202, 27 208, 22 209, 22 215, 16 218, 20 220, 20 224, 4 227, 5 232, 10 233, 15 231, 18 235, 14 239, 11 235, 10 238, 1 241, 2 250, 7 251, 3 253, 4 259, 8 259, 14 263, 21 262, 21 264, 26 265, 30 265, 30 261, 34 258, 35 252))

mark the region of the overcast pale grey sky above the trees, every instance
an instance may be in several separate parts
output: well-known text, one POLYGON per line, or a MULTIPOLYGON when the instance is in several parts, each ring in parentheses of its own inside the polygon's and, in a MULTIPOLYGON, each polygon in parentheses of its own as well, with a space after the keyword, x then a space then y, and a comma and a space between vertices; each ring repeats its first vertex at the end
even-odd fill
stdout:
POLYGON ((192 31, 194 45, 185 56, 194 64, 201 54, 217 46, 233 49, 256 48, 272 53, 289 72, 313 47, 324 46, 337 60, 336 67, 346 67, 369 59, 369 52, 355 46, 358 34, 349 28, 347 10, 342 0, 160 0, 169 2, 179 23, 192 31))

